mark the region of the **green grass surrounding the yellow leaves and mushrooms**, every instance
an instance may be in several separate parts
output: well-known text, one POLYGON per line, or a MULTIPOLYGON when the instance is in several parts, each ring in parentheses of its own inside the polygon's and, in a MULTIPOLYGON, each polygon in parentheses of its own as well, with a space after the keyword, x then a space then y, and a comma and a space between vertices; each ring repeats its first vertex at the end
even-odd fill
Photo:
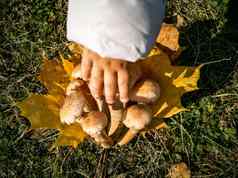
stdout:
POLYGON ((193 177, 238 177, 238 23, 235 1, 170 0, 169 20, 185 19, 180 65, 210 63, 201 90, 186 94, 180 113, 162 129, 108 152, 90 142, 50 151, 52 130, 29 132, 15 103, 45 92, 36 79, 44 52, 64 50, 63 0, 0 2, 0 177, 165 177, 185 162, 193 177))

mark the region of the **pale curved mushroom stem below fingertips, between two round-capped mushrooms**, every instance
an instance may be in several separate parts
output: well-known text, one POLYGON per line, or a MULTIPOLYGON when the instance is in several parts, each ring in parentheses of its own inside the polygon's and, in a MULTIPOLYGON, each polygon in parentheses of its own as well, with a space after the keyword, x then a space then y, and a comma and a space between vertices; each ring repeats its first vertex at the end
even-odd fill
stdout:
POLYGON ((116 101, 114 104, 109 105, 108 108, 111 118, 108 135, 111 136, 115 133, 122 122, 123 104, 120 101, 116 101))

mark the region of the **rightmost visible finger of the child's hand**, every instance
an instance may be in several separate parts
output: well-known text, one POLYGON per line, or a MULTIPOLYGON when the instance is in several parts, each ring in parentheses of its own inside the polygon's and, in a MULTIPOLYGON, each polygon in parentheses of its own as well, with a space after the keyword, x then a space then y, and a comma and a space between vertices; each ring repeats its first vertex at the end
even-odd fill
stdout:
POLYGON ((122 103, 127 103, 129 100, 128 96, 128 83, 129 83, 129 76, 126 69, 121 69, 117 73, 118 77, 118 89, 120 100, 122 103))

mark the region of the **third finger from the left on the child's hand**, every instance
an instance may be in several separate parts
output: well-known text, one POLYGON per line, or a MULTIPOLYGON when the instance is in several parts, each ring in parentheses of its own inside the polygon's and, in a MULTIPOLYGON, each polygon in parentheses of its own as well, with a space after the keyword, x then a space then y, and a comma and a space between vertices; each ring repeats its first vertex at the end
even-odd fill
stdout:
POLYGON ((108 104, 113 104, 116 98, 117 76, 116 72, 104 70, 104 95, 108 104))

